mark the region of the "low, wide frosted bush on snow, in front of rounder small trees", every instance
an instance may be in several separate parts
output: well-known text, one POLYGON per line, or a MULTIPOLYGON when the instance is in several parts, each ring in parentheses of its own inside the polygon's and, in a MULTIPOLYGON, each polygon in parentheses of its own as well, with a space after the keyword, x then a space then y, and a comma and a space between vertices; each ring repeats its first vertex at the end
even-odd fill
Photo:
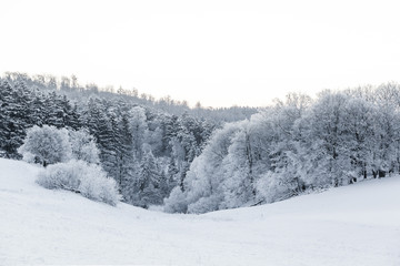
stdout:
POLYGON ((37 183, 50 190, 67 190, 82 196, 116 206, 120 200, 114 180, 108 178, 99 165, 70 161, 49 165, 37 183))

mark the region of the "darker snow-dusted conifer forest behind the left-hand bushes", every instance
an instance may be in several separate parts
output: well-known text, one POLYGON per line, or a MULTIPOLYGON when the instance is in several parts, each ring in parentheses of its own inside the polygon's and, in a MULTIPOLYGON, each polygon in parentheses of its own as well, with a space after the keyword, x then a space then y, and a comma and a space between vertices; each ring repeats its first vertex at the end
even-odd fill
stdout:
POLYGON ((63 93, 64 84, 62 91, 53 79, 39 81, 23 74, 0 80, 1 156, 21 158, 18 149, 34 125, 84 129, 96 140, 99 164, 133 205, 162 204, 174 186, 182 186, 190 163, 219 126, 188 112, 174 115, 140 105, 118 93, 63 93))

